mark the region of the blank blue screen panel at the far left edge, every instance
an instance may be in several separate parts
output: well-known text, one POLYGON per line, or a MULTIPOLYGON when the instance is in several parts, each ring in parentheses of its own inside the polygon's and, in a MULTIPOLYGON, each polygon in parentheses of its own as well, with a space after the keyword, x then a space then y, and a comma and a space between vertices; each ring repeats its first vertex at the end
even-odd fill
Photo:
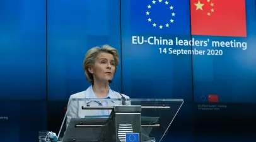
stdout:
POLYGON ((0 100, 46 100, 45 1, 1 1, 0 20, 0 100))

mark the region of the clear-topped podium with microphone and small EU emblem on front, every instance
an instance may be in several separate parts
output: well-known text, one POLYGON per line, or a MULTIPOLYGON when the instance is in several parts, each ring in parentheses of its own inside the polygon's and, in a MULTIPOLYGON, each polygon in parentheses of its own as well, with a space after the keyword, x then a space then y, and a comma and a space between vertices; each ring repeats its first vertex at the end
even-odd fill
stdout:
POLYGON ((162 141, 182 104, 183 99, 73 98, 68 103, 58 139, 62 142, 162 141), (73 111, 71 106, 79 109, 78 116, 67 117, 73 111))

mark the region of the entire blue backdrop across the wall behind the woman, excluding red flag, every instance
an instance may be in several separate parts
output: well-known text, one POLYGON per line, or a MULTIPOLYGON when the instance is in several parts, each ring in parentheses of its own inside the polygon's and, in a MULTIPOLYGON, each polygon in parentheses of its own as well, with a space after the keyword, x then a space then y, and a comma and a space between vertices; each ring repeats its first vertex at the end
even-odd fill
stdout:
MULTIPOLYGON (((36 139, 38 131, 47 129, 46 124, 57 124, 47 123, 47 117, 54 119, 59 111, 61 120, 56 121, 61 123, 62 107, 69 96, 90 85, 83 72, 84 55, 93 46, 104 44, 117 48, 120 54, 113 81, 123 94, 132 98, 178 98, 187 102, 173 122, 166 141, 205 140, 192 137, 198 137, 202 131, 206 137, 212 136, 211 131, 219 131, 230 119, 235 124, 244 122, 243 126, 250 126, 245 122, 253 121, 255 115, 247 110, 255 106, 231 106, 235 111, 229 108, 205 114, 194 107, 197 104, 190 103, 208 102, 209 94, 218 95, 218 102, 223 103, 256 103, 256 4, 255 0, 245 2, 247 37, 238 38, 191 35, 189 0, 170 1, 168 6, 163 1, 151 9, 148 5, 153 5, 152 0, 0 1, 0 127, 11 128, 0 131, 3 139, 30 141, 27 139, 30 136, 36 139), (153 17, 149 17, 147 11, 153 17), (165 22, 170 19, 174 22, 167 28, 165 22), (156 20, 157 26, 148 25, 150 20, 156 20), (160 23, 163 30, 158 27, 160 23), (168 43, 160 43, 163 39, 168 43), (177 39, 180 44, 185 40, 209 39, 209 45, 177 45, 177 39), (212 41, 234 40, 246 46, 211 45, 212 41), (206 52, 205 55, 175 55, 175 50, 181 49, 206 52), (211 55, 207 55, 207 50, 211 55), (58 106, 55 101, 62 104, 58 106), (243 109, 241 116, 225 116, 224 123, 223 119, 212 119, 218 122, 218 128, 206 128, 212 116, 227 112, 237 115, 238 109, 243 109), (203 113, 207 119, 201 119, 203 113), (204 127, 194 129, 194 124, 204 127)), ((244 134, 247 138, 249 130, 244 134)), ((218 141, 220 138, 216 137, 218 141)), ((230 138, 234 137, 228 135, 227 139, 230 138)))

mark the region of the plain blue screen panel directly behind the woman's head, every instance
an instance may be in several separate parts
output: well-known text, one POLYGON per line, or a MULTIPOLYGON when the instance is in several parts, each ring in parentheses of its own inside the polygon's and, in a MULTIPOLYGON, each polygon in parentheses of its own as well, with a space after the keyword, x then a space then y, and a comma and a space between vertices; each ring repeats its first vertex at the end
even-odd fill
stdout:
MULTIPOLYGON (((117 0, 47 1, 49 101, 66 101, 89 87, 83 60, 90 48, 107 44, 120 54, 119 4, 117 0)), ((113 82, 121 90, 121 65, 113 82)))

